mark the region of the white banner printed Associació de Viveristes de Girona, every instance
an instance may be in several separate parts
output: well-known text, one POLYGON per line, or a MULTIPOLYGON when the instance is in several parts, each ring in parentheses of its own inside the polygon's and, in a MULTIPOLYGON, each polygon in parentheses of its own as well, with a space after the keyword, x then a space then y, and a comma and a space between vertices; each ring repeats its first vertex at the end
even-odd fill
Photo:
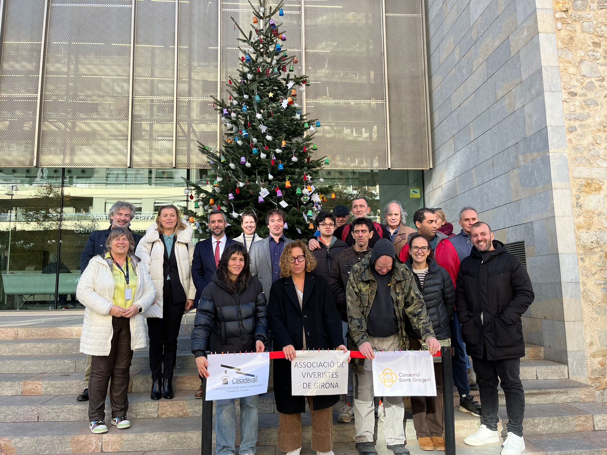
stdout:
POLYGON ((339 395, 348 391, 350 351, 296 351, 291 362, 293 395, 339 395))

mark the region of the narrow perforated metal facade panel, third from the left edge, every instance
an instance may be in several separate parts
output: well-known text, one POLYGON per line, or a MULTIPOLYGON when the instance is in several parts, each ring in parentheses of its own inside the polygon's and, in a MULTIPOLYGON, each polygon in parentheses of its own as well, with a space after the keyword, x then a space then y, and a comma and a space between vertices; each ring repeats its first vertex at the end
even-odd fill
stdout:
POLYGON ((137 0, 133 167, 173 166, 175 1, 137 0))

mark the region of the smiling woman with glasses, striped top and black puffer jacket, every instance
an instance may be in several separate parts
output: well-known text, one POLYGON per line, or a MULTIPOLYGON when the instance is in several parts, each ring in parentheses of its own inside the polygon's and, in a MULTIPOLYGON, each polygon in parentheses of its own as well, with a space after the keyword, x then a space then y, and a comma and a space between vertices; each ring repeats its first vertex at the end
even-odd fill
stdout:
MULTIPOLYGON (((430 257, 430 243, 421 234, 412 235, 409 239, 409 259, 405 263, 413 272, 419 291, 424 296, 426 311, 432 322, 437 340, 451 337, 449 320, 455 306, 455 289, 453 281, 445 269, 430 257)), ((405 320, 407 337, 411 349, 421 349, 421 338, 409 319, 405 320)), ((443 439, 443 375, 441 363, 434 363, 436 378, 435 397, 411 397, 413 426, 421 450, 445 450, 443 439)))

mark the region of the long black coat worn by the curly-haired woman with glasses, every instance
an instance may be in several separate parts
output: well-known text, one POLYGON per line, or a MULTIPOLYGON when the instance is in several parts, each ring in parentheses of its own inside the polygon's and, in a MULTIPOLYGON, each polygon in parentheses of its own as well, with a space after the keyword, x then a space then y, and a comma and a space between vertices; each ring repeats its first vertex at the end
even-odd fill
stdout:
MULTIPOLYGON (((272 283, 269 302, 274 351, 282 351, 288 345, 302 349, 304 331, 308 349, 335 349, 344 344, 333 294, 327 280, 320 275, 306 272, 301 309, 292 278, 280 278, 272 283)), ((291 362, 286 359, 274 360, 274 398, 279 413, 305 413, 306 397, 291 394, 291 362)), ((338 395, 312 397, 314 409, 328 408, 338 401, 338 395)))

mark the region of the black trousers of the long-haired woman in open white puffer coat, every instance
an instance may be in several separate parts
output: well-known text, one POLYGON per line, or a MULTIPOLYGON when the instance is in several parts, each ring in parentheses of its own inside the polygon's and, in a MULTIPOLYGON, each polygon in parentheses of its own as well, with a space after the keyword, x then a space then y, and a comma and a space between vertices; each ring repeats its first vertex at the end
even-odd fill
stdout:
POLYGON ((177 337, 185 308, 185 302, 173 302, 171 282, 165 280, 162 317, 148 318, 152 379, 172 379, 173 377, 175 362, 177 362, 177 337))

